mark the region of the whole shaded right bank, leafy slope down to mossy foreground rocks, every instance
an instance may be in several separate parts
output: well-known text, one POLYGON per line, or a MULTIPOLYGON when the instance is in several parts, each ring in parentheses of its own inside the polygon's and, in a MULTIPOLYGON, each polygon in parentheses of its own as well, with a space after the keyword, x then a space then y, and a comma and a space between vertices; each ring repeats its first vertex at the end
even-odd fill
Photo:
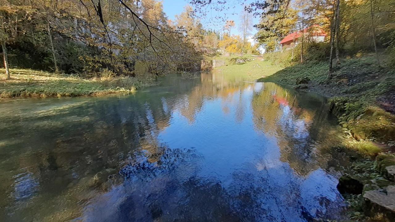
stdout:
POLYGON ((296 64, 258 81, 290 85, 329 98, 331 112, 355 141, 339 146, 359 154, 338 186, 355 210, 350 217, 395 221, 394 69, 378 66, 372 55, 365 55, 344 58, 329 81, 325 61, 296 64))

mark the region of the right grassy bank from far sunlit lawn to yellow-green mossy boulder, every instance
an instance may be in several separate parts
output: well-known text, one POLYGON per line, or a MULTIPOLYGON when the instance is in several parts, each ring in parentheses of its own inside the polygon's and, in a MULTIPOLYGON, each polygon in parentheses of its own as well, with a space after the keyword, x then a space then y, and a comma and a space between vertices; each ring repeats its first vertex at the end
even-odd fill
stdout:
MULTIPOLYGON (((385 55, 382 66, 374 55, 343 58, 328 81, 327 61, 307 61, 288 67, 257 58, 245 64, 221 66, 216 70, 241 75, 249 80, 273 82, 302 90, 317 92, 329 98, 332 112, 339 123, 357 140, 371 141, 350 148, 376 156, 382 147, 392 147, 395 139, 395 71, 388 68, 385 55)), ((228 74, 227 74, 228 75, 228 74)), ((387 148, 386 148, 387 149, 387 148)))

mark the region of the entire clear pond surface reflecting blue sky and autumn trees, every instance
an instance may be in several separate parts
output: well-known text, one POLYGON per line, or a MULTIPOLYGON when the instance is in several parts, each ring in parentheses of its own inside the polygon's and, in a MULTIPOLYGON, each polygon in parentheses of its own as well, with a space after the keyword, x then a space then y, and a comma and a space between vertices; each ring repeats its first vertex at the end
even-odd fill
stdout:
POLYGON ((344 217, 342 161, 328 148, 340 129, 316 94, 203 73, 0 110, 2 221, 344 217), (118 182, 92 187, 109 168, 118 182))

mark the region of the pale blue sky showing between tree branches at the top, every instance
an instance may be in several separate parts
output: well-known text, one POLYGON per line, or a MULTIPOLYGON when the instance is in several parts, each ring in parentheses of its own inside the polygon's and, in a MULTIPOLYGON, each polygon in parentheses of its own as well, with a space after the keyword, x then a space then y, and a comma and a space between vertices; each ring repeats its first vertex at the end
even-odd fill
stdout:
MULTIPOLYGON (((253 0, 247 0, 246 2, 252 2, 253 0)), ((166 13, 167 17, 174 21, 175 15, 181 14, 184 6, 188 4, 189 0, 162 0, 163 2, 163 10, 166 13)), ((222 20, 218 21, 215 19, 215 16, 224 17, 226 20, 234 20, 236 25, 231 30, 231 34, 239 35, 241 34, 237 27, 239 27, 239 13, 243 9, 243 6, 236 4, 236 5, 229 5, 229 9, 224 10, 220 13, 216 11, 208 11, 207 17, 201 18, 201 23, 203 24, 204 28, 212 28, 214 30, 223 30, 224 22, 222 20)), ((259 18, 254 18, 253 24, 257 24, 259 18)), ((252 34, 256 33, 256 29, 251 32, 252 34)))

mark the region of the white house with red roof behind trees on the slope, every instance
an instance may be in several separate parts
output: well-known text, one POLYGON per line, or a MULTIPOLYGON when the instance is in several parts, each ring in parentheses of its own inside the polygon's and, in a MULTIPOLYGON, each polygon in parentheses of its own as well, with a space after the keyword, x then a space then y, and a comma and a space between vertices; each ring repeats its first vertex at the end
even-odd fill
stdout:
POLYGON ((315 42, 325 41, 327 34, 322 30, 321 26, 315 24, 308 28, 303 29, 303 31, 297 31, 288 36, 285 36, 283 40, 280 41, 282 49, 290 49, 297 45, 301 41, 302 35, 304 38, 310 39, 315 42))

